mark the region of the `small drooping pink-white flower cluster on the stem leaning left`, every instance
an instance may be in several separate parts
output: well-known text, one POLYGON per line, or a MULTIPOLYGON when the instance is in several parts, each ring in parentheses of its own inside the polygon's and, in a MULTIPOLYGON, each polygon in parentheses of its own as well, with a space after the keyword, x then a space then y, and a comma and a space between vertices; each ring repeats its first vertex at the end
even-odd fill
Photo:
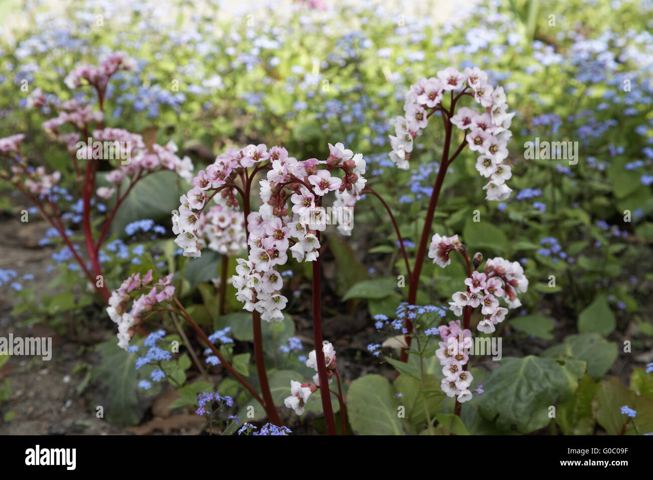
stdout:
POLYGON ((127 350, 129 340, 134 334, 134 327, 140 323, 139 316, 150 312, 155 304, 165 302, 174 295, 174 287, 170 285, 172 274, 153 283, 152 270, 140 278, 135 273, 123 281, 122 285, 111 293, 106 313, 118 324, 118 346, 127 350), (141 293, 138 298, 136 296, 141 293), (129 308, 129 302, 132 302, 129 308))

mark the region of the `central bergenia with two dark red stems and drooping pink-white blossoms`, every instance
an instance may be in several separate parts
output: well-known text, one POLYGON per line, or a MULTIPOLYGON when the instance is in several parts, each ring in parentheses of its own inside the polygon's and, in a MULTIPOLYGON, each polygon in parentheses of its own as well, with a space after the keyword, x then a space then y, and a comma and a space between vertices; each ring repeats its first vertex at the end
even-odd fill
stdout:
MULTIPOLYGON (((232 283, 237 289, 236 298, 243 302, 245 310, 252 312, 255 362, 263 406, 270 419, 278 424, 264 366, 261 334, 261 320, 283 320, 283 309, 288 301, 281 295, 283 280, 278 266, 288 261, 289 250, 296 261, 313 262, 313 329, 315 344, 321 345, 320 232, 330 220, 323 207, 323 197, 333 191, 335 208, 349 212, 366 184, 363 177, 366 162, 362 154, 354 155, 341 143, 329 144, 329 149, 325 160, 298 161, 279 146, 269 150, 264 144, 229 148, 218 155, 212 165, 200 170, 191 182, 193 189, 182 195, 179 210, 172 213, 175 242, 187 257, 199 257, 202 248, 207 246, 223 254, 238 251, 244 240, 242 225, 246 222, 248 256, 237 259, 232 283), (332 175, 337 169, 342 170, 342 175, 332 175), (266 172, 266 178, 259 180, 262 205, 258 212, 251 212, 251 187, 259 172, 266 172), (236 194, 242 200, 242 210, 236 194), (215 206, 204 213, 210 200, 214 200, 215 206), (242 220, 238 220, 239 215, 242 220)), ((351 215, 348 217, 351 219, 351 215)), ((344 221, 340 226, 346 232, 351 221, 344 221)), ((223 270, 221 279, 222 294, 227 283, 225 272, 223 270)), ((329 376, 324 353, 320 349, 317 352, 319 382, 327 385, 329 376)), ((322 400, 327 430, 334 433, 328 391, 322 391, 322 400)))

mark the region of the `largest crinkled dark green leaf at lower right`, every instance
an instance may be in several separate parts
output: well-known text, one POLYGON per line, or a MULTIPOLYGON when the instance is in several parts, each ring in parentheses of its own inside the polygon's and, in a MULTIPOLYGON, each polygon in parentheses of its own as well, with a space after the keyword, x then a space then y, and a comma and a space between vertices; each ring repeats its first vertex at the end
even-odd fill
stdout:
POLYGON ((481 413, 501 430, 530 433, 547 426, 549 407, 573 394, 584 374, 584 362, 505 357, 479 397, 481 413))

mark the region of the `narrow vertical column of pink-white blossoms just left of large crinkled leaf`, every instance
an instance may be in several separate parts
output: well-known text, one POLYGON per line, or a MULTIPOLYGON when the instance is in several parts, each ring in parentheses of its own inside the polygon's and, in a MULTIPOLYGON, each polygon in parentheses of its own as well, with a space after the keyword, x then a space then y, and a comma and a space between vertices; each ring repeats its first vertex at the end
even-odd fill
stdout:
POLYGON ((449 322, 448 327, 441 325, 438 332, 443 340, 438 343, 440 348, 436 351, 444 375, 440 387, 447 396, 457 396, 456 400, 462 404, 472 397, 470 385, 474 377, 466 369, 470 361, 468 344, 471 342, 471 332, 460 327, 460 320, 449 322), (470 340, 466 340, 468 338, 470 340))

